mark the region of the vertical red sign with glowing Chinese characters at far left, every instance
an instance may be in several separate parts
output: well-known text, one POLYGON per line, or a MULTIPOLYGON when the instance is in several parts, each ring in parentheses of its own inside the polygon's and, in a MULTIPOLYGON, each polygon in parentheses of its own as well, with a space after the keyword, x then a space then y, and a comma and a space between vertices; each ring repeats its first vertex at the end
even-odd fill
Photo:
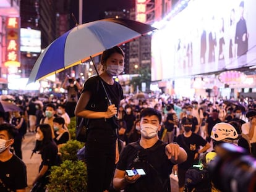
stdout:
POLYGON ((6 19, 6 67, 20 67, 20 20, 19 17, 6 19))

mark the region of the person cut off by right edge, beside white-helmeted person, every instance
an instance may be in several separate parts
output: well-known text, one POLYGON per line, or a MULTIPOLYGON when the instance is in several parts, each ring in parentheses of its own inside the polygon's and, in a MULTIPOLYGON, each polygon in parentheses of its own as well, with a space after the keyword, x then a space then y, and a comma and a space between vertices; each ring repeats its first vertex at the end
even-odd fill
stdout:
POLYGON ((256 111, 251 110, 246 114, 249 122, 242 124, 242 133, 249 136, 252 156, 256 157, 256 111))

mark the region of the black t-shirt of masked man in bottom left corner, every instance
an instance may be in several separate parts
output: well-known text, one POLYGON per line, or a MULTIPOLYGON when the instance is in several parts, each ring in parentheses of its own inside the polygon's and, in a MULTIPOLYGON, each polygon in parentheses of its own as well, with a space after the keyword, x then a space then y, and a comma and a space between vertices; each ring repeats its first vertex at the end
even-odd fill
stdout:
POLYGON ((27 168, 19 157, 13 155, 0 161, 0 191, 16 191, 27 187, 27 168))

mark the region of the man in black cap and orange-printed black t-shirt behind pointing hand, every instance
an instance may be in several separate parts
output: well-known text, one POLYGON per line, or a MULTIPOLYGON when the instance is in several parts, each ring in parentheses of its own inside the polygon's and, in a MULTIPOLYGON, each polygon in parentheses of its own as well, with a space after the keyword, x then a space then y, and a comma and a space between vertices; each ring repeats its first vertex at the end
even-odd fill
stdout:
POLYGON ((197 164, 200 154, 211 147, 210 143, 204 140, 202 136, 192 132, 192 119, 183 118, 181 123, 184 133, 177 136, 177 144, 187 152, 187 161, 178 165, 177 175, 179 178, 180 192, 184 190, 187 170, 192 167, 193 164, 197 164), (201 149, 200 146, 202 146, 201 149))

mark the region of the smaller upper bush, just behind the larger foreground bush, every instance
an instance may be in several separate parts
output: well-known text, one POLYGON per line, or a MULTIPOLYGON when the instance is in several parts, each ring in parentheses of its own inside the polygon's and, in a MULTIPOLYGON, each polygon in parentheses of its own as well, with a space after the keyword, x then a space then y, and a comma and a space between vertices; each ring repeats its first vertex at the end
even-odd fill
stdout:
POLYGON ((67 141, 67 143, 59 149, 59 152, 61 152, 61 161, 77 161, 77 151, 84 145, 84 143, 77 140, 67 141))

